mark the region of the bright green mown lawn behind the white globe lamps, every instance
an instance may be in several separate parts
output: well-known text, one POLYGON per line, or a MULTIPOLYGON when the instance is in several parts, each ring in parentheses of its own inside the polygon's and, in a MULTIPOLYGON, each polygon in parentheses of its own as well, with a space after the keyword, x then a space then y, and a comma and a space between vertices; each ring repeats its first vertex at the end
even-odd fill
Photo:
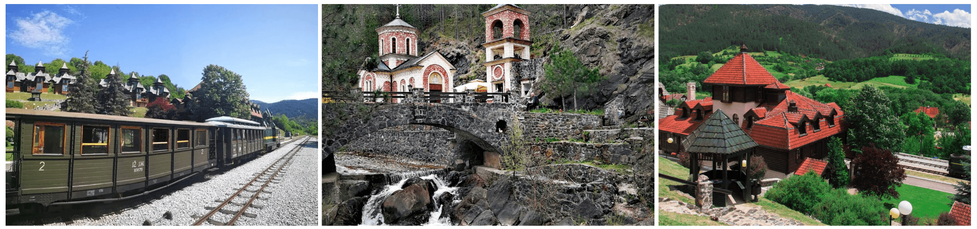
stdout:
POLYGON ((883 199, 885 208, 898 207, 902 201, 913 204, 913 216, 922 218, 936 218, 941 212, 950 211, 950 205, 954 204, 947 197, 953 196, 932 189, 920 188, 908 184, 896 188, 899 192, 899 199, 883 199))

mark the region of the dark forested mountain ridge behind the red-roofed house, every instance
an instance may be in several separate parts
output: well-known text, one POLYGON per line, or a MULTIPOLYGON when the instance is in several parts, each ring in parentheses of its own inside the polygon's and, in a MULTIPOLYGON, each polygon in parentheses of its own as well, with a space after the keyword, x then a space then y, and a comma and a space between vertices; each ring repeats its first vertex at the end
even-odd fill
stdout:
POLYGON ((934 53, 970 60, 970 28, 921 23, 889 13, 828 5, 663 5, 662 60, 744 42, 837 61, 934 53))

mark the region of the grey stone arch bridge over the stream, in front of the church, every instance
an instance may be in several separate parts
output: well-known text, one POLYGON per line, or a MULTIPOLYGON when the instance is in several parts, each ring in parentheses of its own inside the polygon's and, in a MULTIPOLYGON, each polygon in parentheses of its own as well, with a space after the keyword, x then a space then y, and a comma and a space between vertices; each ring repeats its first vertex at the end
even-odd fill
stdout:
POLYGON ((423 103, 422 94, 427 93, 420 94, 415 91, 413 95, 401 96, 407 103, 398 104, 361 103, 362 99, 354 99, 351 103, 323 103, 320 141, 324 144, 323 173, 336 171, 334 153, 343 146, 369 133, 407 124, 440 127, 455 133, 457 143, 472 143, 488 152, 505 155, 505 148, 511 141, 509 134, 499 132, 499 128, 508 128, 513 119, 518 118, 517 104, 475 103, 471 92, 467 97, 443 100, 460 103, 423 103))

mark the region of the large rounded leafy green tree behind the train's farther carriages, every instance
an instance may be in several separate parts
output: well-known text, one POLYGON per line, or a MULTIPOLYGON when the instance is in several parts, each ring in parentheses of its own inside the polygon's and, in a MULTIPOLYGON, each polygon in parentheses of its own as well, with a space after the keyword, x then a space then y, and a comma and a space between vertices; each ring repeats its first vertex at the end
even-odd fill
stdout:
POLYGON ((247 87, 241 75, 224 67, 209 65, 203 69, 200 88, 193 92, 191 119, 203 121, 215 116, 250 119, 247 87))

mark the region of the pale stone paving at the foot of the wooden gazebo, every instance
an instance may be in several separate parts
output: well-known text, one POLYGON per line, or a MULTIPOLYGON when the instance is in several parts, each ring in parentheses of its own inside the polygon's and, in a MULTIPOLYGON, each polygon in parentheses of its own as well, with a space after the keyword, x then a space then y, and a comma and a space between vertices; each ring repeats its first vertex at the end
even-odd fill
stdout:
POLYGON ((712 207, 702 209, 695 205, 670 200, 658 199, 658 209, 663 211, 709 216, 713 220, 733 226, 803 226, 800 221, 783 218, 776 213, 770 213, 755 205, 739 205, 712 207))

